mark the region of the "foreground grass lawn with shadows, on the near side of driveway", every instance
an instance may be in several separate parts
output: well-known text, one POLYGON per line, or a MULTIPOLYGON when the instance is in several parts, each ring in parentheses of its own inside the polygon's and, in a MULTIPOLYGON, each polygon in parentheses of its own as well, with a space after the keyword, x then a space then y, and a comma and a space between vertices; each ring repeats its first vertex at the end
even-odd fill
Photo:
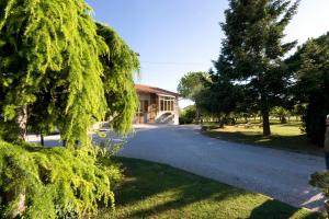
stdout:
POLYGON ((116 191, 116 210, 104 209, 98 218, 319 218, 261 194, 168 165, 117 161, 125 168, 126 177, 116 191))

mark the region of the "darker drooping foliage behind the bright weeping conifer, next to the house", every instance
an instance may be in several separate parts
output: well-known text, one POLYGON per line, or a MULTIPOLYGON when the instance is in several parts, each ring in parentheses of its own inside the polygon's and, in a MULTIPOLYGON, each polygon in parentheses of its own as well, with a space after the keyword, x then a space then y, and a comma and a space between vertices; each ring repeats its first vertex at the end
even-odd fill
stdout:
POLYGON ((111 27, 98 24, 98 33, 110 49, 109 55, 101 57, 107 102, 106 118, 116 131, 127 134, 138 107, 134 73, 139 71, 139 60, 136 53, 111 27))

